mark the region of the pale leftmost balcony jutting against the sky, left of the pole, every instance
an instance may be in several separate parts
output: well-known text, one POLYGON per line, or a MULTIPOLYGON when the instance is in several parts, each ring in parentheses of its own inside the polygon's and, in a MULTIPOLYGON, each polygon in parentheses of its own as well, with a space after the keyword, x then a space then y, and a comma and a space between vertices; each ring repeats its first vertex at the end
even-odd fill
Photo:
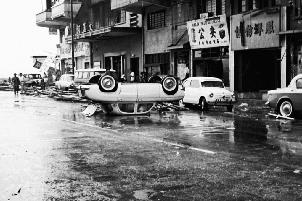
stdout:
POLYGON ((36 24, 39 27, 47 27, 53 29, 62 29, 66 26, 69 26, 69 23, 52 20, 51 10, 45 10, 36 14, 36 24))

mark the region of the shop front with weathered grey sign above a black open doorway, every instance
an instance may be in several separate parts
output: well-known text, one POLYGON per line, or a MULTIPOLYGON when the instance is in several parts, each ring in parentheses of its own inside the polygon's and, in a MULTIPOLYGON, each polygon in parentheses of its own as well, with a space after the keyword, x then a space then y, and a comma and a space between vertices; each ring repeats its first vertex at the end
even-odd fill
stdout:
POLYGON ((280 10, 231 16, 234 89, 239 98, 262 99, 281 87, 280 10))

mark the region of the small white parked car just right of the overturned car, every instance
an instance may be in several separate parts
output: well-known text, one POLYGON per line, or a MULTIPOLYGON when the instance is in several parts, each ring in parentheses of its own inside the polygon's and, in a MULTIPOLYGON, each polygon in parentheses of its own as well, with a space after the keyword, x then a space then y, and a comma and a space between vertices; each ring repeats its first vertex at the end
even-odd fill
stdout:
POLYGON ((223 81, 216 77, 189 77, 183 86, 185 97, 179 101, 180 105, 194 104, 207 110, 209 105, 226 106, 227 111, 233 110, 236 102, 235 94, 226 90, 223 81))

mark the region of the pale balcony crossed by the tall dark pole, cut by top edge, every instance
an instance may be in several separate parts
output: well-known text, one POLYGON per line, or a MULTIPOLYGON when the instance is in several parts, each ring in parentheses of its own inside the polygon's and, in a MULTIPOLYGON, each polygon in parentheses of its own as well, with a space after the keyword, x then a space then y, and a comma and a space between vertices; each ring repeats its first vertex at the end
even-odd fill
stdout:
MULTIPOLYGON (((76 2, 72 1, 72 17, 75 18, 80 7, 82 5, 82 1, 76 2)), ((51 7, 51 18, 57 21, 70 22, 71 21, 71 6, 70 1, 64 1, 59 4, 55 4, 51 7)))

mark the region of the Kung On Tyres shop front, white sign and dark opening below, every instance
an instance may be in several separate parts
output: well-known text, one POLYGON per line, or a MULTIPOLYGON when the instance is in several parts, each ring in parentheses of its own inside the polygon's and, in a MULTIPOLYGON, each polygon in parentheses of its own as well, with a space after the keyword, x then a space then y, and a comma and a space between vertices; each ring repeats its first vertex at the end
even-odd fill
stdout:
POLYGON ((230 38, 225 15, 187 22, 192 76, 217 77, 230 86, 230 38))

